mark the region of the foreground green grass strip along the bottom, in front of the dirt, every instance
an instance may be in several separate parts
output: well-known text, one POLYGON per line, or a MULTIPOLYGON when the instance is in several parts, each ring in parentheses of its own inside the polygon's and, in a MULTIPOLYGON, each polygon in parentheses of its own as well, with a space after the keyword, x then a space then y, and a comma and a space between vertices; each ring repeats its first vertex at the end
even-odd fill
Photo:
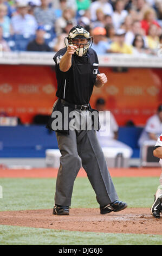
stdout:
POLYGON ((162 236, 60 231, 0 225, 0 245, 162 245, 162 236))

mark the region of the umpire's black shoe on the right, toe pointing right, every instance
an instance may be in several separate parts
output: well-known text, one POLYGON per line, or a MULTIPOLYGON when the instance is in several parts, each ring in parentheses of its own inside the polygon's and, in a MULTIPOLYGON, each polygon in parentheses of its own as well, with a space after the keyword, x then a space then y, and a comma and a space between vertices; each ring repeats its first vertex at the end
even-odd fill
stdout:
POLYGON ((112 211, 121 211, 127 207, 127 204, 122 201, 114 201, 111 204, 100 206, 100 214, 109 214, 112 211))

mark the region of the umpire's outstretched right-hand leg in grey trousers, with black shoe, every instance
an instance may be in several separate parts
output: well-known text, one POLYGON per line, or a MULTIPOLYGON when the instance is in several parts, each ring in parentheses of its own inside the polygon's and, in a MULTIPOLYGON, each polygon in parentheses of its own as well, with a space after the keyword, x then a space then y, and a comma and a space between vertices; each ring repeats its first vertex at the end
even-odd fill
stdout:
POLYGON ((87 131, 77 145, 82 166, 86 170, 88 179, 96 193, 102 214, 119 211, 126 208, 124 202, 118 201, 118 196, 109 174, 105 157, 94 130, 87 131), (114 203, 112 207, 112 202, 114 203))

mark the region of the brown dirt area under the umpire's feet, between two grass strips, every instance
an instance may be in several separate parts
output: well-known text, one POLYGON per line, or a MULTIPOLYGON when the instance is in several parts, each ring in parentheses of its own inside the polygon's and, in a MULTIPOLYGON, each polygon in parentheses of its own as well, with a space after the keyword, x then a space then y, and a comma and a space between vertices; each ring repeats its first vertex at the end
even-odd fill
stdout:
POLYGON ((104 233, 162 234, 162 218, 155 219, 147 208, 127 208, 101 215, 99 209, 70 209, 69 216, 52 215, 52 210, 1 212, 0 224, 104 233))

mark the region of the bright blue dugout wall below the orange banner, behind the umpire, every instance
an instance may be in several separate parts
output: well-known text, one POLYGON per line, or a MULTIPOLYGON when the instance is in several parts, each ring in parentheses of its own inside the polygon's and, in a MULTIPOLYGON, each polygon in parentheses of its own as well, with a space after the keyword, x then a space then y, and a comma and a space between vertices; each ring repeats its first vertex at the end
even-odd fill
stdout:
MULTIPOLYGON (((133 149, 135 158, 139 158, 137 141, 141 131, 141 127, 119 127, 119 141, 133 149)), ((0 157, 45 157, 47 149, 58 149, 55 132, 45 125, 0 126, 0 135, 0 157)))

